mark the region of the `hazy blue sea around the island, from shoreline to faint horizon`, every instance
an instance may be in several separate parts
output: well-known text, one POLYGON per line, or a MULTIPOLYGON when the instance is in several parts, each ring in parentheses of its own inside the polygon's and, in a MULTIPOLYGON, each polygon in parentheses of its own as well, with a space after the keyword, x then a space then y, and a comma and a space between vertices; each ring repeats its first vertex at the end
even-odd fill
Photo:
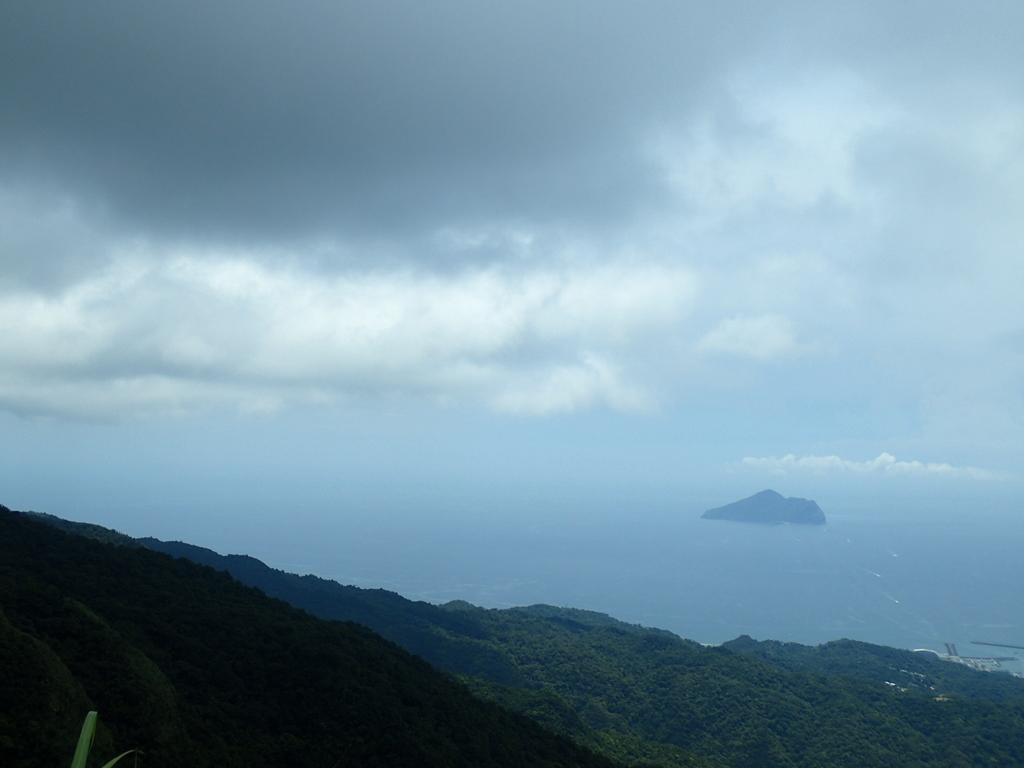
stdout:
MULTIPOLYGON (((110 476, 83 473, 61 488, 23 472, 4 483, 0 502, 414 600, 587 608, 706 643, 846 637, 1000 656, 1013 651, 970 641, 1024 645, 1024 531, 1013 484, 1001 496, 973 482, 937 494, 931 478, 889 478, 868 494, 856 477, 733 473, 689 488, 577 476, 567 490, 570 483, 472 484, 469 462, 459 465, 466 474, 437 471, 432 482, 406 486, 368 471, 327 476, 279 465, 257 478, 213 457, 204 466, 216 476, 188 467, 180 479, 136 473, 133 484, 116 485, 123 506, 110 503, 110 476), (818 501, 827 523, 700 518, 769 483, 818 501)), ((243 456, 239 467, 248 466, 243 456)))

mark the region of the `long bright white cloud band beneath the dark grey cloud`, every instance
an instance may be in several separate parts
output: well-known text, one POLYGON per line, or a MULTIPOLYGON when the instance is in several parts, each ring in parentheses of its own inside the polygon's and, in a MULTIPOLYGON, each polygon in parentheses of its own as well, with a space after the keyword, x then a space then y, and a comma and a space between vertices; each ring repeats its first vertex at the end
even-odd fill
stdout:
POLYGON ((135 256, 56 294, 0 294, 0 403, 86 418, 352 396, 636 411, 654 395, 631 374, 634 345, 671 333, 695 285, 654 264, 332 276, 244 254, 135 256))

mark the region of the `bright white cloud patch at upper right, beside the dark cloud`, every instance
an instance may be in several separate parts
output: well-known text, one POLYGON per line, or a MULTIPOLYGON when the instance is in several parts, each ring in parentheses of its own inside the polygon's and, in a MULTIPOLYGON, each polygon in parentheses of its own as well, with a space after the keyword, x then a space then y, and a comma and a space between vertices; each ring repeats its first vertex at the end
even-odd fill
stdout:
POLYGON ((727 103, 649 144, 697 221, 716 225, 763 206, 806 210, 822 201, 869 209, 873 193, 858 177, 857 150, 899 112, 862 77, 740 71, 727 103))

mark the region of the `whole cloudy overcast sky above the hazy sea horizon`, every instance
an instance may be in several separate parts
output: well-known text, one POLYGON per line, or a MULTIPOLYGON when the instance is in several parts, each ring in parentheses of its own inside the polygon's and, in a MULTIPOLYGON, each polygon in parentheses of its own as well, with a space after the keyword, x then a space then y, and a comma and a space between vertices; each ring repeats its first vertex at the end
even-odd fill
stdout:
POLYGON ((1022 31, 5 0, 0 503, 1012 496, 1022 31))

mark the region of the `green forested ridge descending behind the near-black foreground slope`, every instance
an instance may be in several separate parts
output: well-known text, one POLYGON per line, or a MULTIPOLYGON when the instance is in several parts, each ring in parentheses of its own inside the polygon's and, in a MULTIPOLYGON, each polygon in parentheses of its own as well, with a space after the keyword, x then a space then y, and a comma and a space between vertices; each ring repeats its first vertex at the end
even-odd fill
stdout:
POLYGON ((205 558, 310 611, 355 618, 474 676, 465 679, 481 697, 634 762, 689 765, 695 753, 736 768, 1024 765, 1024 681, 909 651, 749 638, 708 648, 593 611, 433 606, 254 558, 147 545, 205 558))

